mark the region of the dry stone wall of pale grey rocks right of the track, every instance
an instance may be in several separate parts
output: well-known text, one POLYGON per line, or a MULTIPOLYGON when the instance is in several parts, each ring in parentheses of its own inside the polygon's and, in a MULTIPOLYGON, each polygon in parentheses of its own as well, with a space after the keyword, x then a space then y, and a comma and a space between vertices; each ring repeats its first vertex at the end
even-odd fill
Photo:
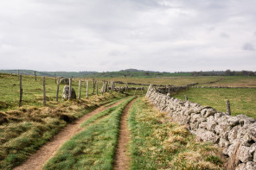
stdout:
POLYGON ((230 116, 212 107, 171 98, 170 93, 162 94, 152 85, 146 97, 203 142, 213 142, 229 157, 235 153, 239 159, 236 170, 256 170, 256 120, 252 117, 230 116))

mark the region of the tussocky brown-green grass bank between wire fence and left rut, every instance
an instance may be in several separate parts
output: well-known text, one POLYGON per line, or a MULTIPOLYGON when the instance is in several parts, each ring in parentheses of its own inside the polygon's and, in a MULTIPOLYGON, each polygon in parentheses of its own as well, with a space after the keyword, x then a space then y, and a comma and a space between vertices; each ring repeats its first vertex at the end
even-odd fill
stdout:
POLYGON ((6 122, 0 124, 0 169, 10 169, 21 164, 67 123, 101 104, 123 97, 118 93, 106 93, 104 96, 85 101, 74 100, 56 107, 29 106, 0 112, 7 118, 6 122))

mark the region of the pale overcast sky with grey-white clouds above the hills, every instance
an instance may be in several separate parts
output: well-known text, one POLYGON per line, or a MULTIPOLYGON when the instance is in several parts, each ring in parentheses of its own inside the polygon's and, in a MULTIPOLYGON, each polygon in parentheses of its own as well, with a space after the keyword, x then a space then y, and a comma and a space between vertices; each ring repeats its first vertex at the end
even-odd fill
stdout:
POLYGON ((0 69, 256 71, 255 0, 0 0, 0 69))

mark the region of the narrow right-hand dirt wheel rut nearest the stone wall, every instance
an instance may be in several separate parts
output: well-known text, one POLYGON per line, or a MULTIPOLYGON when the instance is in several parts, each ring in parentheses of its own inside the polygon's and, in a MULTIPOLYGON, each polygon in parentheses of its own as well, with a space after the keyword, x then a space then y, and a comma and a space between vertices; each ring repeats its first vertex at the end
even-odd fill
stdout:
POLYGON ((118 148, 115 154, 114 170, 125 170, 129 167, 130 158, 127 156, 127 148, 130 141, 130 132, 127 127, 127 118, 129 110, 136 99, 132 100, 130 104, 125 107, 125 110, 120 120, 120 131, 118 139, 118 148))

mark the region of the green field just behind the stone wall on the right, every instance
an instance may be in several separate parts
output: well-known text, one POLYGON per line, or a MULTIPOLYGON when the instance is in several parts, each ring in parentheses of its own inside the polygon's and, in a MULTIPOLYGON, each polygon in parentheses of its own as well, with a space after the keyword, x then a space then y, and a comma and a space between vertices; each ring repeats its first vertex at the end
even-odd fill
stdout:
POLYGON ((231 115, 244 114, 256 118, 256 89, 190 88, 173 97, 184 100, 184 95, 187 95, 191 102, 208 105, 222 112, 227 111, 226 100, 228 99, 231 105, 231 115))

